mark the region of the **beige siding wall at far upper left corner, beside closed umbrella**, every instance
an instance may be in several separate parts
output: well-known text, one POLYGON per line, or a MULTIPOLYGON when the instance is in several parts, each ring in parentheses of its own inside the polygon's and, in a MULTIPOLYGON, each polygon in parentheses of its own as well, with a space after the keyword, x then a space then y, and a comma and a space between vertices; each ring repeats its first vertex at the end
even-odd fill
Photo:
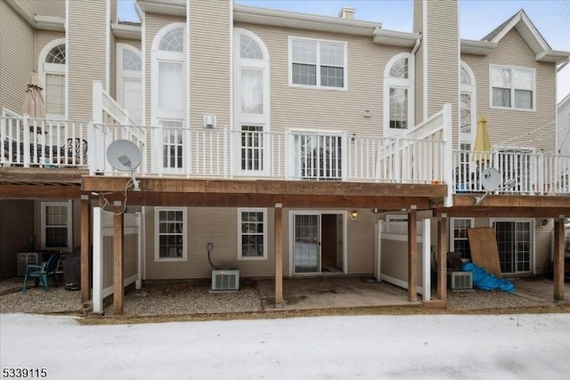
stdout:
POLYGON ((34 62, 34 29, 0 2, 0 113, 2 107, 21 114, 34 62))

